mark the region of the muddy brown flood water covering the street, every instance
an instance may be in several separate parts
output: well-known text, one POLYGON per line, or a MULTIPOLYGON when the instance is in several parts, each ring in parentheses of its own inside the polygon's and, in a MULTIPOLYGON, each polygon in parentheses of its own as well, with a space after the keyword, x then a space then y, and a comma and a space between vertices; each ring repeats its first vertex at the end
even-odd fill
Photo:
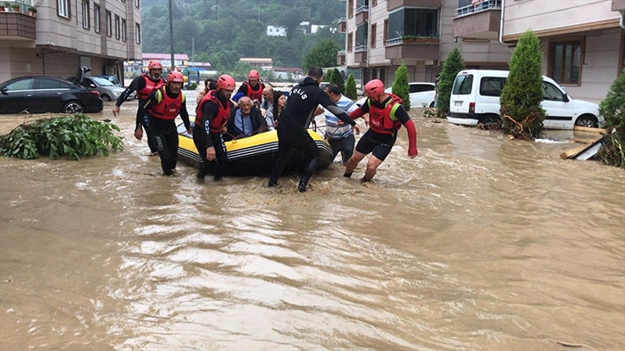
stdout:
POLYGON ((402 129, 373 182, 299 193, 161 175, 135 108, 109 157, 0 158, 0 349, 625 348, 625 171, 572 132, 414 117, 417 158, 402 129))

